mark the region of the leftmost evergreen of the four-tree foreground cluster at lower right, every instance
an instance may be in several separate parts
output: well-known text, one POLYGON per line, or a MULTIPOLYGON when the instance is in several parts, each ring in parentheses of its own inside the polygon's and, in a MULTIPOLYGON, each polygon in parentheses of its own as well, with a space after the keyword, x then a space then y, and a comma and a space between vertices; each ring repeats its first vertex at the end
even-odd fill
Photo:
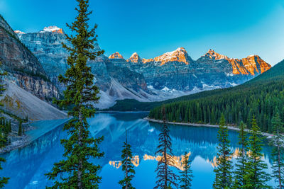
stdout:
POLYGON ((221 115, 219 130, 218 130, 218 152, 217 152, 217 168, 214 169, 216 173, 213 188, 231 188, 232 176, 231 161, 229 160, 230 144, 228 139, 228 128, 225 126, 224 114, 221 115))

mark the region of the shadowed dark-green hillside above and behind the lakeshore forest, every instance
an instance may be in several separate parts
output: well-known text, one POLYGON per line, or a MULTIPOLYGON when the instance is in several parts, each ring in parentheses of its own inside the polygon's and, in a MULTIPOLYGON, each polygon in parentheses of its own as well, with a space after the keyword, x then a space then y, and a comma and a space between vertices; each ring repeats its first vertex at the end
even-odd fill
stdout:
MULTIPOLYGON (((203 92, 195 93, 195 94, 188 95, 188 96, 181 96, 179 98, 173 98, 167 101, 160 101, 160 102, 153 102, 153 103, 142 103, 142 102, 139 102, 133 99, 126 99, 122 101, 117 101, 113 107, 109 108, 109 110, 149 111, 149 110, 153 110, 153 108, 156 108, 164 104, 168 104, 168 103, 193 101, 193 100, 197 100, 201 98, 211 98, 211 97, 217 98, 218 96, 226 97, 226 96, 229 96, 230 94, 236 95, 238 93, 242 95, 243 93, 244 94, 251 93, 251 91, 253 90, 256 92, 263 91, 264 93, 269 93, 269 91, 262 90, 262 87, 263 86, 266 87, 266 86, 269 86, 270 84, 275 84, 279 82, 282 82, 283 84, 283 80, 284 80, 284 60, 282 62, 279 62, 273 68, 269 69, 263 74, 257 76, 254 79, 251 79, 251 81, 248 81, 245 84, 242 84, 239 86, 234 86, 231 88, 216 89, 212 91, 203 91, 203 92)), ((239 98, 241 98, 241 96, 239 98)))

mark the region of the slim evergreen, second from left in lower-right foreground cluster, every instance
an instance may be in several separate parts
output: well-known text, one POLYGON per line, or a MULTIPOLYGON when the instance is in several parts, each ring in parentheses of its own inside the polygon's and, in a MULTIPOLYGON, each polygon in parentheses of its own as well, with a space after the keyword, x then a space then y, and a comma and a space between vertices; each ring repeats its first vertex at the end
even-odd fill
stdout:
POLYGON ((248 161, 248 156, 246 152, 248 151, 248 136, 246 132, 246 125, 241 121, 239 127, 239 154, 236 158, 236 171, 234 172, 234 188, 243 188, 245 185, 244 176, 246 176, 246 163, 248 161))

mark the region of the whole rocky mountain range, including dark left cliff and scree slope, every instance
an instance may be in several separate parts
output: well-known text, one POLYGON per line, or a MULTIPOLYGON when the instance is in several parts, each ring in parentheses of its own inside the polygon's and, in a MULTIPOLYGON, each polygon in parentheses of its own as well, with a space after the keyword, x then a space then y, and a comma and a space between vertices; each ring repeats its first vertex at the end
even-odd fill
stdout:
MULTIPOLYGON (((5 80, 9 92, 1 101, 6 109, 22 118, 31 114, 35 119, 43 115, 38 115, 38 110, 33 108, 30 110, 34 103, 40 102, 40 107, 53 111, 46 102, 59 98, 65 90, 58 82, 58 75, 68 68, 69 52, 62 47, 62 42, 71 46, 61 28, 49 26, 36 33, 24 33, 13 30, 0 16, 0 62, 2 69, 8 72, 5 80), (30 103, 23 99, 30 99, 30 103)), ((94 46, 94 51, 100 50, 98 44, 94 46)), ((123 99, 164 101, 214 88, 228 88, 271 68, 257 55, 233 59, 214 50, 194 60, 182 47, 150 59, 136 52, 124 59, 115 52, 109 57, 101 55, 88 64, 101 93, 97 108, 102 109, 123 99)), ((65 117, 64 113, 57 115, 65 117)))

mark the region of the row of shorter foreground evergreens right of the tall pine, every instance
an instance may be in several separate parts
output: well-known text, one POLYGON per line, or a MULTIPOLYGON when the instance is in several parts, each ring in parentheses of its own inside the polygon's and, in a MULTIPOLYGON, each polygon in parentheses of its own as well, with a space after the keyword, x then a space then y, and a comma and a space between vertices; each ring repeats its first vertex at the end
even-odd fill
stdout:
MULTIPOLYGON (((175 167, 172 142, 170 137, 170 128, 166 121, 165 107, 161 109, 160 116, 163 118, 163 125, 159 134, 158 147, 156 154, 160 155, 158 166, 155 169, 156 185, 155 188, 191 188, 194 179, 191 169, 191 161, 188 154, 182 156, 182 171, 180 176, 175 174, 169 166, 175 167)), ((267 173, 268 164, 261 156, 263 149, 263 137, 261 137, 260 128, 256 123, 253 115, 251 118, 251 131, 246 131, 246 125, 241 122, 239 125, 239 153, 236 155, 236 163, 233 163, 233 153, 230 147, 229 132, 225 126, 224 114, 221 115, 218 130, 218 147, 217 147, 217 166, 214 168, 215 179, 212 188, 273 188, 268 185, 268 181, 274 179, 277 188, 283 188, 283 171, 284 156, 283 144, 284 136, 283 122, 280 121, 278 113, 272 119, 273 137, 271 144, 273 145, 272 174, 267 173)), ((131 181, 135 176, 131 146, 124 142, 124 149, 121 151, 122 170, 124 171, 124 179, 119 181, 122 188, 134 188, 131 181)))

